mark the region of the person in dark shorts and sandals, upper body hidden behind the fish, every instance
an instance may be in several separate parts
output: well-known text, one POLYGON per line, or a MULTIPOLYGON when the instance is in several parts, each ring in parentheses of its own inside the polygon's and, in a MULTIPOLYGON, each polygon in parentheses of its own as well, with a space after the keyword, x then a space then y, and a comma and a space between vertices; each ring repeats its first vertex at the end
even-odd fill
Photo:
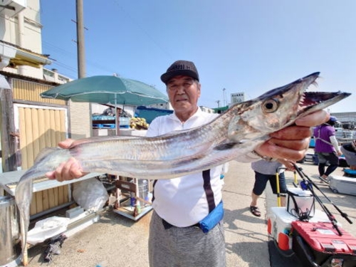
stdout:
POLYGON ((277 190, 277 177, 278 172, 279 180, 279 193, 281 196, 281 206, 286 206, 287 184, 284 170, 293 170, 293 162, 286 159, 277 159, 276 161, 258 160, 251 163, 251 167, 255 172, 255 184, 251 192, 252 201, 250 204, 250 211, 254 216, 261 216, 261 211, 258 209, 257 200, 266 189, 267 182, 269 181, 273 194, 278 194, 277 190), (280 169, 278 169, 280 168, 280 169))

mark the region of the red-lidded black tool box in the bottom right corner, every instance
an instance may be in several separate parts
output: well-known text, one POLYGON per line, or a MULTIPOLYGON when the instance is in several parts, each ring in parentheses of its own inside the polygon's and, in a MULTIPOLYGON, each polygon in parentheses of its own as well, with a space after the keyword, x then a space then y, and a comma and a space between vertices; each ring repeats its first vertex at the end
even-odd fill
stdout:
POLYGON ((292 221, 293 251, 305 266, 356 266, 356 238, 330 222, 292 221))

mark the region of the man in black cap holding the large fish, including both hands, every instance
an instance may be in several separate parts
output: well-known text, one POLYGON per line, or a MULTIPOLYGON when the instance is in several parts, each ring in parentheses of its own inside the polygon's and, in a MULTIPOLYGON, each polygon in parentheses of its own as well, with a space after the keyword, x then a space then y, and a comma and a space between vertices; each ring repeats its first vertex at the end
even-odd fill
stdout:
MULTIPOLYGON (((147 136, 162 135, 175 130, 199 127, 216 115, 201 112, 198 100, 201 94, 199 74, 194 63, 176 61, 161 80, 167 86, 172 115, 152 121, 147 136)), ((310 141, 310 127, 327 120, 326 112, 315 112, 295 122, 295 126, 271 134, 271 139, 256 148, 261 156, 303 158, 310 141)), ((61 142, 68 147, 73 140, 61 142)), ((251 160, 256 156, 251 155, 251 160), (252 158, 252 159, 251 159, 252 158)), ((69 159, 48 177, 63 181, 83 176, 78 162, 69 159)), ((150 224, 150 266, 226 266, 225 241, 222 220, 210 225, 204 233, 199 221, 218 211, 221 215, 221 167, 175 179, 157 180, 152 198, 154 213, 150 224), (220 208, 220 209, 219 209, 220 208)))

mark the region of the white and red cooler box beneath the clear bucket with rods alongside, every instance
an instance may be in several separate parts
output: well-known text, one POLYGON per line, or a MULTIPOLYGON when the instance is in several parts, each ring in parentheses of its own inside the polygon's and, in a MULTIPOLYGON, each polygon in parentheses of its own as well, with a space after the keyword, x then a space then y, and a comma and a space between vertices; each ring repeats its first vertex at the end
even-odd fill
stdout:
MULTIPOLYGON (((268 234, 277 242, 278 248, 283 251, 292 249, 291 223, 298 218, 291 215, 286 207, 273 206, 267 213, 267 231, 268 234)), ((310 222, 330 221, 324 211, 315 209, 314 216, 309 219, 310 222)))

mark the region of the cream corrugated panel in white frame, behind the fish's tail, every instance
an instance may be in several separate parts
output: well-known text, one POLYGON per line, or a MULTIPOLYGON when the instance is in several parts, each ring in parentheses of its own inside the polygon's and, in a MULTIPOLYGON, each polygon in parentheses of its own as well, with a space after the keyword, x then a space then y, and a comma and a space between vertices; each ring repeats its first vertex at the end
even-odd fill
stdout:
MULTIPOLYGON (((15 104, 19 118, 21 168, 33 165, 38 153, 45 147, 56 147, 67 137, 66 108, 50 108, 35 105, 15 104)), ((33 194, 30 214, 67 203, 68 185, 36 192, 33 194)))

